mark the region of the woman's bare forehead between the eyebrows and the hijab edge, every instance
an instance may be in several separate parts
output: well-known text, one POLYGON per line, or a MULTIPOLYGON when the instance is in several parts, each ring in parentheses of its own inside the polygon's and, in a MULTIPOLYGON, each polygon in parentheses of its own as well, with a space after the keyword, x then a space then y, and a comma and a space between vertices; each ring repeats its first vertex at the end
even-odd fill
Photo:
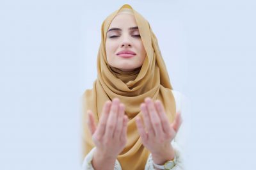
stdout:
POLYGON ((133 27, 137 26, 134 15, 128 13, 122 13, 116 15, 116 17, 112 20, 110 27, 133 27))

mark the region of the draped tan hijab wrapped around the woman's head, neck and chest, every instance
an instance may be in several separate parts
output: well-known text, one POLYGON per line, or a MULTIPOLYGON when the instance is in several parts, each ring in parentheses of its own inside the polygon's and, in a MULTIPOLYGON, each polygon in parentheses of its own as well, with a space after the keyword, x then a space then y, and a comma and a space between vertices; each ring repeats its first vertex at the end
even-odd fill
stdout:
POLYGON ((170 123, 174 120, 176 108, 172 86, 158 47, 157 38, 148 21, 140 13, 133 10, 129 4, 124 4, 119 10, 111 13, 102 23, 101 43, 97 56, 97 73, 98 76, 93 82, 93 88, 86 89, 83 94, 82 160, 95 146, 87 127, 88 115, 86 111, 90 109, 95 114, 96 123, 99 123, 104 103, 118 97, 120 102, 125 104, 125 114, 129 117, 129 122, 127 144, 117 159, 124 170, 145 169, 149 151, 141 144, 135 122, 136 116, 141 115, 140 104, 146 97, 161 100, 170 123), (132 72, 122 72, 118 68, 109 66, 105 49, 106 33, 111 20, 118 12, 125 12, 127 8, 130 9, 136 19, 141 40, 147 52, 141 68, 132 72))

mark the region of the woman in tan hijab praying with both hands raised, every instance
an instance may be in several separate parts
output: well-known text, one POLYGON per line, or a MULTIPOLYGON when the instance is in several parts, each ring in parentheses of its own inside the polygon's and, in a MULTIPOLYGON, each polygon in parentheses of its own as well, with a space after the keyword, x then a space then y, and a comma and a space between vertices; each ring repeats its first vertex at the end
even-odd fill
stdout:
POLYGON ((83 95, 83 169, 184 169, 180 93, 150 24, 125 4, 101 31, 98 77, 83 95))

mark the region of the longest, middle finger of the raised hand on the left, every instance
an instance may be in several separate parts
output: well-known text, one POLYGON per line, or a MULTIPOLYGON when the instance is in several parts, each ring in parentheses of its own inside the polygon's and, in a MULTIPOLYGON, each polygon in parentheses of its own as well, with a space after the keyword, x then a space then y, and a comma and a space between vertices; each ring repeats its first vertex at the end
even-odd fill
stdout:
POLYGON ((106 125, 106 137, 107 138, 113 138, 113 134, 116 127, 116 118, 118 116, 118 107, 119 107, 119 99, 114 98, 110 111, 109 111, 109 117, 106 125))

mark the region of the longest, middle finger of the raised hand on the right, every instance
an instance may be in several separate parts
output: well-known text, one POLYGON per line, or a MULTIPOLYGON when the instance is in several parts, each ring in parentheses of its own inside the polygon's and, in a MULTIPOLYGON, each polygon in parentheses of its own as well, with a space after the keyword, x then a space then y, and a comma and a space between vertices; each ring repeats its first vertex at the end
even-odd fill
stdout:
POLYGON ((148 113, 150 115, 150 121, 152 123, 154 132, 157 137, 161 137, 163 136, 163 128, 162 128, 161 120, 157 114, 154 102, 149 97, 145 99, 145 102, 147 105, 148 113))

